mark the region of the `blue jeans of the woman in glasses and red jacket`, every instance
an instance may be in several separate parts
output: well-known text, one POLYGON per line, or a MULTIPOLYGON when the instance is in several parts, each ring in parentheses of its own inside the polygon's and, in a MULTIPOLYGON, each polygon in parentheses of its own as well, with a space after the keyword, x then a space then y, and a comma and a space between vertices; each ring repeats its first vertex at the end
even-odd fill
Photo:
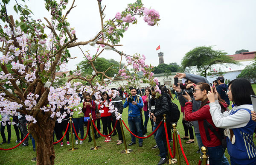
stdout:
POLYGON ((222 145, 216 147, 207 147, 210 165, 229 165, 224 155, 225 149, 222 145))

